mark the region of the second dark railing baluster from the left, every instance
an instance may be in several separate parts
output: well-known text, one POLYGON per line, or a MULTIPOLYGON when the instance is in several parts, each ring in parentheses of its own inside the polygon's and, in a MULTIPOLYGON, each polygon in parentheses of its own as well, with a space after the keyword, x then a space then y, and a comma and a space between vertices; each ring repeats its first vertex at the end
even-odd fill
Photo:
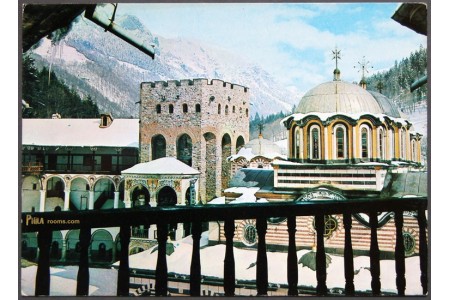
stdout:
POLYGON ((91 229, 80 228, 80 263, 77 274, 77 296, 89 295, 89 244, 91 243, 91 229))

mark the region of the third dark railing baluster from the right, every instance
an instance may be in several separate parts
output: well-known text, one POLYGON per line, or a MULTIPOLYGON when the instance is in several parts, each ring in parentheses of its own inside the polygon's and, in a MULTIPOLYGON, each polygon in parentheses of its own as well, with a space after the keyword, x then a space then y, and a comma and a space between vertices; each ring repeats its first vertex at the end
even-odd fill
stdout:
POLYGON ((378 217, 376 212, 369 213, 370 224, 370 274, 372 275, 372 294, 381 295, 380 249, 378 248, 378 217))

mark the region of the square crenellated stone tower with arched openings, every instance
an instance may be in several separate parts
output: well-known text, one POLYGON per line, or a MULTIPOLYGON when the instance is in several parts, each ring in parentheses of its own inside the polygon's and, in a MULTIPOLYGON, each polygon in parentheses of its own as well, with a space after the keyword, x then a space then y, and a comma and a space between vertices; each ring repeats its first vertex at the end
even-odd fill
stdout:
POLYGON ((249 141, 249 89, 213 79, 143 82, 140 161, 173 156, 201 172, 200 199, 228 186, 226 158, 249 141))

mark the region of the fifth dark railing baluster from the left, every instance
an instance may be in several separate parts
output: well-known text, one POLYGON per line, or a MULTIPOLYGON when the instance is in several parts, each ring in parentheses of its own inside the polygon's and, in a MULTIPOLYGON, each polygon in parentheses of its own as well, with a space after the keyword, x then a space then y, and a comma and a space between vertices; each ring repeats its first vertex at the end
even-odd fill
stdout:
POLYGON ((200 265, 200 237, 202 234, 202 223, 192 223, 192 259, 190 290, 191 296, 200 296, 201 265, 200 265))

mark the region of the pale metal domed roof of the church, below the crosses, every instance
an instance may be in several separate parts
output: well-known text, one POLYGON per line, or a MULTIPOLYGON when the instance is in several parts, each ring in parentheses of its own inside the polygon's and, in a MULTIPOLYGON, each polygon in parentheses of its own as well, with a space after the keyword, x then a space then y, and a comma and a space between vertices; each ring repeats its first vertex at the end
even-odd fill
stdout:
POLYGON ((300 100, 296 112, 371 113, 400 117, 398 109, 387 97, 341 80, 325 82, 308 91, 300 100))

